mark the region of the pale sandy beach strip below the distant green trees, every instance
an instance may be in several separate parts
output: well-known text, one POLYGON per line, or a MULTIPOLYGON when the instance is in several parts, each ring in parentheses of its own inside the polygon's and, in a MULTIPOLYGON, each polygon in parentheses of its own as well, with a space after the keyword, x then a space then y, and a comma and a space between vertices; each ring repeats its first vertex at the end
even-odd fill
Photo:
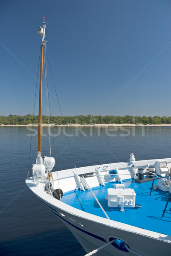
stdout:
MULTIPOLYGON (((34 127, 38 127, 38 125, 0 125, 1 127, 27 127, 27 126, 34 126, 34 127)), ((145 127, 151 127, 151 126, 171 126, 171 124, 160 124, 160 125, 142 125, 142 124, 139 124, 139 125, 134 125, 134 124, 92 124, 92 125, 80 125, 80 124, 69 124, 69 125, 55 125, 55 124, 42 124, 42 126, 61 126, 61 127, 81 127, 81 126, 85 126, 85 127, 106 127, 106 126, 125 126, 125 127, 134 127, 134 126, 137 126, 137 127, 141 127, 141 126, 145 126, 145 127)))

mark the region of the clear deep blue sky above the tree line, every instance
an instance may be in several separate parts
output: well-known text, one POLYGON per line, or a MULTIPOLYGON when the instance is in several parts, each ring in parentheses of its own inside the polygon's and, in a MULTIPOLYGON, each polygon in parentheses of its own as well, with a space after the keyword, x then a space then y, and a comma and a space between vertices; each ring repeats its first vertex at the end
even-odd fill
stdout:
POLYGON ((170 0, 1 0, 0 115, 33 113, 43 15, 64 116, 171 116, 170 0))

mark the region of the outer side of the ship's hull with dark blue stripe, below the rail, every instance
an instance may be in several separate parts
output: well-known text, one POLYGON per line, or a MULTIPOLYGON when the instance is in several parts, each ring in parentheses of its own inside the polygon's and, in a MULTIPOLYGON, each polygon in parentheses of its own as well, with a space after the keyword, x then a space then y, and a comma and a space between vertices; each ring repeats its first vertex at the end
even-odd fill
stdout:
POLYGON ((47 202, 44 203, 68 227, 87 253, 107 244, 111 239, 118 239, 124 243, 120 246, 113 243, 108 244, 99 250, 96 255, 128 256, 129 252, 129 255, 157 256, 168 255, 171 251, 170 237, 168 237, 168 241, 167 237, 165 237, 164 241, 160 237, 145 236, 145 233, 138 234, 136 231, 131 232, 130 230, 123 230, 99 221, 81 218, 81 216, 72 215, 58 207, 53 208, 47 202), (130 251, 125 246, 122 246, 123 244, 126 244, 130 251))

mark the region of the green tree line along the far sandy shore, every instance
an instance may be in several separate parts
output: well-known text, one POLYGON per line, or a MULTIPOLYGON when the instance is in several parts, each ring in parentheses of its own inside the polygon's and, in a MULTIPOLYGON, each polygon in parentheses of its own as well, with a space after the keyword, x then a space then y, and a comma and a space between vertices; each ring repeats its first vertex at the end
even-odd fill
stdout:
MULTIPOLYGON (((171 124, 171 116, 93 116, 93 115, 76 115, 76 116, 50 116, 49 122, 56 125, 67 124, 171 124)), ((48 117, 42 116, 42 123, 48 123, 48 117)), ((38 124, 38 116, 28 114, 26 116, 0 116, 0 125, 29 125, 38 124)))

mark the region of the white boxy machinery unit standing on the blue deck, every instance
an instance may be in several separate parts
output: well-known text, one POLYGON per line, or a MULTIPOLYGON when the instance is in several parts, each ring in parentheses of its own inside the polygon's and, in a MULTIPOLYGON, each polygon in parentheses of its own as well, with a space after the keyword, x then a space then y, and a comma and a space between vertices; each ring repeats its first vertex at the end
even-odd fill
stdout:
POLYGON ((125 184, 115 184, 115 188, 107 189, 107 206, 121 207, 121 212, 124 211, 124 207, 135 207, 136 193, 134 189, 125 189, 125 184))

